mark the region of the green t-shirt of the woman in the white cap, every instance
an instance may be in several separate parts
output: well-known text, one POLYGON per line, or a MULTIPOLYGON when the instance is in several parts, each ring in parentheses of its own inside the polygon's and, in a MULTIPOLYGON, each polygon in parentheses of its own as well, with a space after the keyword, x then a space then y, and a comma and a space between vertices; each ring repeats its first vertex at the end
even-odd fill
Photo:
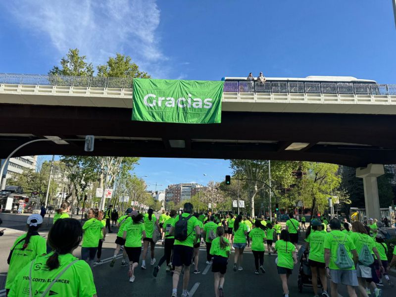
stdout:
MULTIPOLYGON (((26 237, 26 234, 19 236, 14 242, 12 248, 26 237)), ((47 252, 46 240, 40 235, 33 235, 30 237, 28 246, 22 249, 25 241, 20 242, 12 251, 9 268, 7 273, 7 280, 5 282, 5 289, 10 289, 12 282, 18 272, 28 263, 30 263, 36 256, 43 255, 47 252)), ((11 248, 11 249, 12 249, 11 248)))

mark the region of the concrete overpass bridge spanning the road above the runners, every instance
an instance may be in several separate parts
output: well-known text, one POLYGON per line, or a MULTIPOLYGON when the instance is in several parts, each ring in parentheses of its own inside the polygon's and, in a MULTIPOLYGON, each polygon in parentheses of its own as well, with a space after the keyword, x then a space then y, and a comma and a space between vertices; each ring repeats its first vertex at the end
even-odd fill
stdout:
MULTIPOLYGON (((132 93, 132 79, 0 74, 0 157, 33 139, 95 135, 93 152, 78 141, 39 142, 18 155, 396 163, 396 85, 226 81, 222 122, 207 125, 131 121, 132 93)), ((376 191, 381 169, 365 170, 358 174, 376 191)))

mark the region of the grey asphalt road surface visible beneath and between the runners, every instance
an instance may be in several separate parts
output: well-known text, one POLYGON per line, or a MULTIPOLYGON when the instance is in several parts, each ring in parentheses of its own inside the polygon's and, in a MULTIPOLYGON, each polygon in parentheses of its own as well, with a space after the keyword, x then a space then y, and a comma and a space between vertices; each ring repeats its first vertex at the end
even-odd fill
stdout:
MULTIPOLYGON (((23 229, 22 217, 5 221, 4 217, 1 216, 4 224, 1 228, 6 228, 8 225, 19 226, 19 229, 23 229)), ((8 265, 6 264, 6 258, 8 256, 9 248, 12 246, 16 237, 21 235, 22 232, 19 230, 8 230, 4 236, 0 238, 0 289, 4 288, 6 272, 8 265)), ((48 232, 40 232, 41 235, 47 236, 48 232)), ((127 275, 128 268, 121 267, 121 259, 116 261, 113 268, 109 267, 109 260, 113 254, 115 247, 115 233, 108 234, 106 236, 106 242, 103 243, 102 260, 104 263, 93 268, 94 280, 98 296, 114 296, 117 297, 129 297, 132 294, 134 296, 171 296, 172 293, 172 276, 170 273, 165 271, 165 264, 161 267, 157 278, 152 276, 153 266, 149 265, 149 253, 147 256, 146 265, 147 270, 137 269, 135 272, 136 280, 134 283, 129 283, 127 275)), ((194 297, 208 297, 214 296, 213 292, 213 273, 211 272, 210 265, 205 264, 206 261, 206 250, 205 246, 201 245, 198 261, 198 269, 201 271, 200 274, 193 274, 191 269, 190 277, 190 296, 194 297)), ((78 247, 74 254, 80 256, 81 247, 78 247)), ((157 261, 163 254, 163 247, 160 243, 157 243, 155 248, 155 258, 157 261)), ((225 296, 262 296, 265 292, 265 296, 282 296, 282 287, 279 276, 277 275, 275 258, 274 255, 265 254, 264 256, 264 268, 265 274, 255 275, 254 274, 254 261, 253 255, 249 248, 244 253, 244 265, 243 271, 234 272, 232 267, 234 263, 234 253, 230 257, 228 269, 225 277, 224 294, 225 296)), ((296 266, 293 270, 293 274, 289 279, 289 290, 290 296, 300 297, 312 297, 313 291, 311 288, 304 288, 302 293, 298 293, 297 289, 297 276, 298 267, 296 266)), ((394 283, 396 279, 393 278, 394 283)), ((178 294, 181 295, 181 284, 179 282, 178 294)), ((347 297, 345 286, 341 286, 340 290, 341 297, 347 297)), ((3 291, 0 291, 0 297, 4 296, 3 291)), ((392 289, 385 285, 383 297, 393 296, 392 289)))

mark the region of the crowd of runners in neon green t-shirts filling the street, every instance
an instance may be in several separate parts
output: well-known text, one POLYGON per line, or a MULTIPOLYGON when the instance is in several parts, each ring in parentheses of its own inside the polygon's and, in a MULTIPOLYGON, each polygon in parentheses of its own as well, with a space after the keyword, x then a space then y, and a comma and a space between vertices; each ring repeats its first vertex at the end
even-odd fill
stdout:
MULTIPOLYGON (((185 203, 183 211, 162 211, 157 218, 152 209, 139 213, 128 208, 117 218, 112 205, 105 212, 96 208, 88 211, 88 218, 81 226, 69 218, 68 202, 62 203, 53 218, 53 225, 46 241, 38 231, 43 223, 39 214, 29 216, 28 231, 18 237, 11 247, 6 292, 7 296, 96 296, 92 267, 100 265, 102 243, 111 233, 110 220, 118 227, 115 249, 110 261, 114 267, 122 251, 121 266, 127 267, 129 282, 137 280, 137 268, 148 268, 146 257, 150 247, 152 275, 157 277, 166 263, 166 272, 172 274, 172 297, 177 297, 178 283, 183 278, 182 297, 189 297, 190 266, 199 274, 200 244, 206 246, 206 264, 211 265, 214 277, 214 294, 224 297, 227 293, 225 275, 234 251, 232 269, 243 273, 244 250, 250 247, 254 257, 254 274, 264 274, 264 252, 276 254, 276 267, 282 283, 284 297, 289 297, 288 280, 295 265, 300 262, 301 285, 309 280, 315 297, 329 297, 328 280, 332 297, 338 297, 341 285, 347 286, 350 297, 382 296, 384 278, 393 285, 388 271, 396 266, 396 249, 388 263, 388 247, 385 244, 387 231, 382 222, 369 219, 368 225, 351 224, 336 218, 313 218, 308 223, 305 217, 301 225, 291 213, 286 227, 279 220, 251 218, 242 215, 198 214, 193 204, 185 203), (108 222, 108 223, 107 223, 108 222), (305 224, 308 223, 308 227, 305 224), (302 246, 298 245, 301 227, 306 228, 302 246), (330 229, 328 232, 328 228, 330 229), (107 230, 108 229, 108 232, 107 230), (155 244, 162 242, 163 255, 157 262, 155 244), (81 243, 81 259, 73 255, 81 243), (274 244, 275 243, 275 244, 274 244), (141 260, 142 258, 142 260, 141 260), (307 271, 304 268, 308 268, 307 271), (308 276, 304 278, 305 276, 308 276), (306 280, 305 280, 306 279, 306 280)), ((301 239, 302 240, 302 239, 301 239)), ((229 295, 232 296, 231 293, 229 295)))

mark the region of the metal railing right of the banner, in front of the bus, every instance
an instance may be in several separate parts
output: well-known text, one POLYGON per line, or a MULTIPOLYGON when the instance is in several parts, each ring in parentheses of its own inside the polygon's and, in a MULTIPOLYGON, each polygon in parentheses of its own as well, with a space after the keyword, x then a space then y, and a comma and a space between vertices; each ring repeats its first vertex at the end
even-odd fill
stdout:
POLYGON ((226 81, 224 92, 396 95, 396 84, 226 81))

